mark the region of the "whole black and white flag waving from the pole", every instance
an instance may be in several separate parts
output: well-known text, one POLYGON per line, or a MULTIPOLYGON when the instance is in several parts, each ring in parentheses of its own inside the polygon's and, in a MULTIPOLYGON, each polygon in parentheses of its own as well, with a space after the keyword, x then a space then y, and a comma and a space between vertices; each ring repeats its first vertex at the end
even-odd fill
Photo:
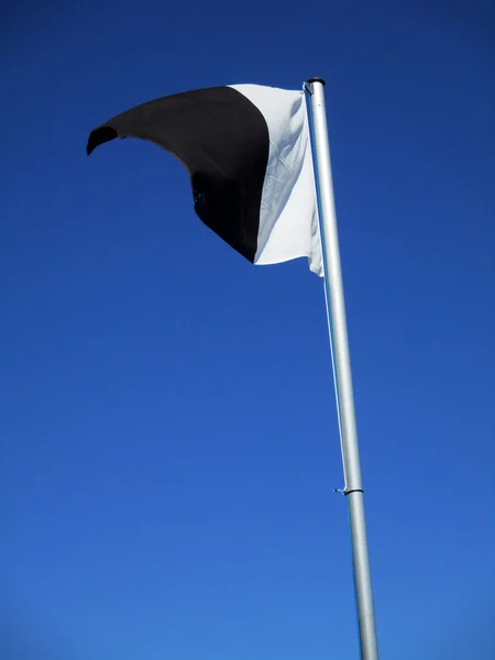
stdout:
POLYGON ((304 91, 232 85, 162 97, 91 131, 88 155, 116 138, 176 156, 197 216, 250 262, 306 256, 323 275, 304 91))

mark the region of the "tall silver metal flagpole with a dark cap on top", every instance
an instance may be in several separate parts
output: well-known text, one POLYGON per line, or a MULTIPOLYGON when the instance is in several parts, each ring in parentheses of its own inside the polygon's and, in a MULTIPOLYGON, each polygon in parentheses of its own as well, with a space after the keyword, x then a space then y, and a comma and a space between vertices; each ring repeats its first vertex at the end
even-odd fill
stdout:
POLYGON ((324 80, 321 78, 310 78, 306 82, 305 89, 310 96, 311 105, 311 125, 323 246, 324 292, 344 472, 343 494, 349 503, 351 522, 361 658, 362 660, 378 660, 323 86, 324 80))

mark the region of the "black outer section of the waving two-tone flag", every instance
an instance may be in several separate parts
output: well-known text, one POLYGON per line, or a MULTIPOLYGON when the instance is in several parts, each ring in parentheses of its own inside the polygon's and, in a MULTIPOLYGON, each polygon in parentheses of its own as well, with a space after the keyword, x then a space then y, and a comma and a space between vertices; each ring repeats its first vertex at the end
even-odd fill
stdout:
POLYGON ((268 128, 254 103, 231 87, 148 101, 95 129, 88 155, 116 138, 139 138, 174 154, 189 172, 198 217, 254 261, 270 153, 268 128))

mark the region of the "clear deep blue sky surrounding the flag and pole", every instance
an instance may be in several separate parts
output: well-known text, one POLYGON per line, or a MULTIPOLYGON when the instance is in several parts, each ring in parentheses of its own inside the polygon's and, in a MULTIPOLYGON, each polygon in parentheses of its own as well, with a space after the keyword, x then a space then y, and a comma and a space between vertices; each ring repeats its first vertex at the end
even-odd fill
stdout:
POLYGON ((0 656, 358 658, 321 282, 254 267, 158 96, 327 78, 382 658, 495 658, 494 6, 20 3, 1 21, 0 656))

